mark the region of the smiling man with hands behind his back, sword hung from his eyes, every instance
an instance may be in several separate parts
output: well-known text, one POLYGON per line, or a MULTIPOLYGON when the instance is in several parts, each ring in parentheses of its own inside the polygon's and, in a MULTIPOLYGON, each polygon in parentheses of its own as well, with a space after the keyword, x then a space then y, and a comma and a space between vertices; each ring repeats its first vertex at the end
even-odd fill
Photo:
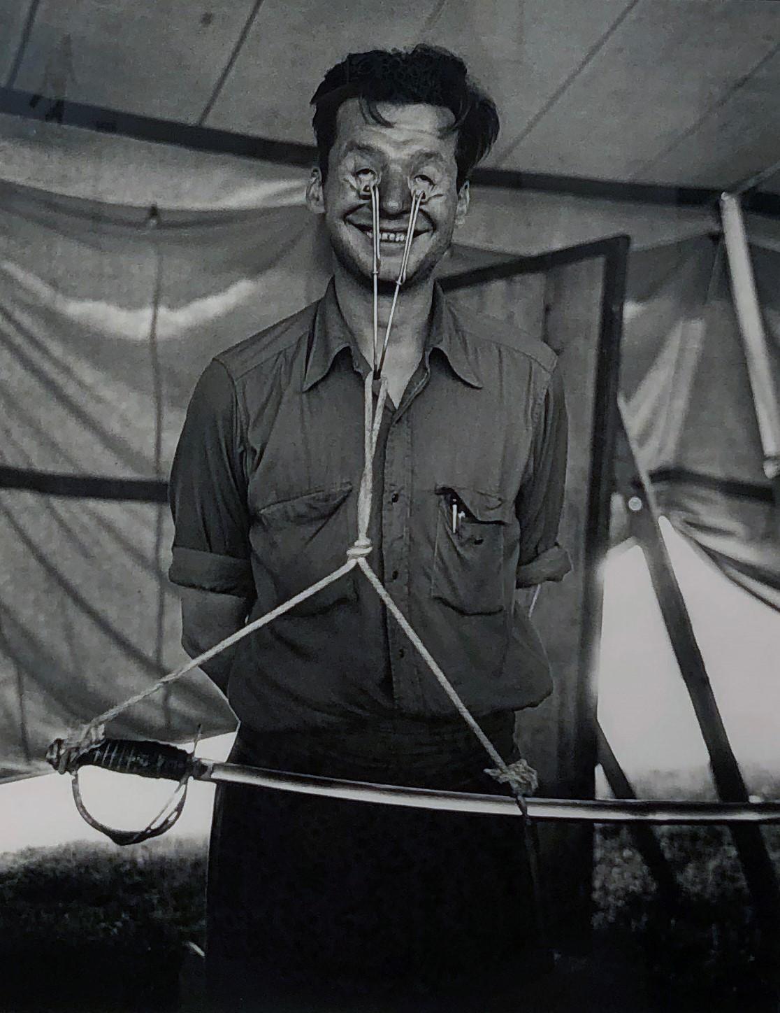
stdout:
MULTIPOLYGON (((363 378, 393 315, 369 561, 509 760, 514 711, 550 690, 516 589, 569 566, 556 544, 561 382, 544 344, 455 314, 434 282, 496 109, 460 60, 424 46, 347 57, 313 103, 307 202, 324 216, 334 275, 323 299, 218 356, 197 385, 171 476, 182 642, 194 656, 344 562, 363 378)), ((236 762, 501 790, 356 570, 204 668, 240 719, 236 762)), ((222 789, 212 994, 231 1010, 491 1009, 486 988, 514 976, 533 933, 518 825, 222 789)))

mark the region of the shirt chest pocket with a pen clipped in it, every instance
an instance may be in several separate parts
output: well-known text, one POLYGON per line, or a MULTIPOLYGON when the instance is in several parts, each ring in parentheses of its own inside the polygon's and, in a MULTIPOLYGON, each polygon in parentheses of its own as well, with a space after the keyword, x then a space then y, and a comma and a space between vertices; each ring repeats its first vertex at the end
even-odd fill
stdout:
POLYGON ((504 557, 512 504, 494 493, 437 485, 431 595, 465 615, 506 608, 504 557))

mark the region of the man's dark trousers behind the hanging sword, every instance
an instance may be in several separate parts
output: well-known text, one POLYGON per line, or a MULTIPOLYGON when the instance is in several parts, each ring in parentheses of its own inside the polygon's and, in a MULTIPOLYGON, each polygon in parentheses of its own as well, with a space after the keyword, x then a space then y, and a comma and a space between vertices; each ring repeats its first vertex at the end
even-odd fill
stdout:
MULTIPOLYGON (((514 759, 512 715, 482 723, 514 759)), ((262 736, 242 729, 230 759, 505 791, 483 773, 489 758, 459 720, 262 736)), ((527 975, 535 935, 520 819, 218 788, 206 942, 214 1009, 517 1009, 513 983, 527 975)))

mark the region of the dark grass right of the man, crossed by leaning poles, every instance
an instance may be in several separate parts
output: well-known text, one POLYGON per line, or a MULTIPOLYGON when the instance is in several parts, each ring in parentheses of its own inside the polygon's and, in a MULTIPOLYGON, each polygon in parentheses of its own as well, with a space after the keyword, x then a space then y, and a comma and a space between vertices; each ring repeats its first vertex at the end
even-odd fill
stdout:
MULTIPOLYGON (((716 827, 656 833, 675 880, 671 899, 662 897, 627 830, 600 829, 596 939, 640 967, 649 1009, 776 1010, 773 971, 760 955, 760 934, 728 833, 716 827)), ((765 834, 780 870, 780 837, 765 834)), ((769 954, 769 961, 780 965, 780 954, 769 954)))

